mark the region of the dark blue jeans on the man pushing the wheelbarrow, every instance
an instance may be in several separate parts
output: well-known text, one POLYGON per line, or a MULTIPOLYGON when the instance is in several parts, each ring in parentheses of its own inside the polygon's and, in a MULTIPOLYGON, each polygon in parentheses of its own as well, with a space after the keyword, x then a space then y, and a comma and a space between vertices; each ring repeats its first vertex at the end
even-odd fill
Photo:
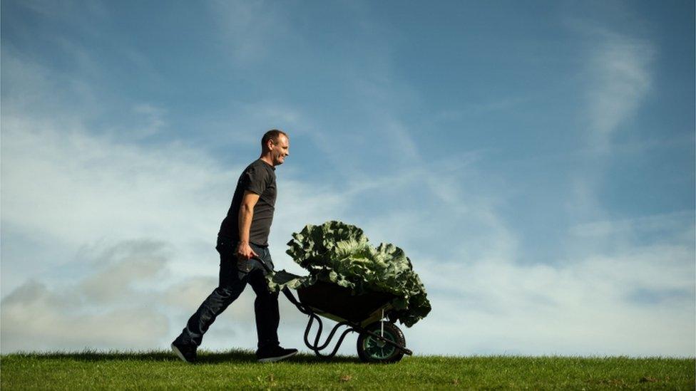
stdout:
MULTIPOLYGON (((259 255, 269 269, 273 269, 268 247, 250 244, 251 248, 259 255)), ((270 348, 279 345, 278 324, 280 313, 278 311, 278 293, 268 290, 265 278, 265 268, 256 261, 237 262, 235 249, 237 243, 227 239, 218 238, 218 246, 215 249, 220 253, 220 282, 218 288, 203 301, 193 316, 188 320, 178 340, 183 343, 195 343, 200 345, 203 334, 215 321, 215 318, 225 311, 232 301, 235 301, 247 283, 256 293, 254 311, 256 313, 256 331, 259 338, 258 348, 270 348)))

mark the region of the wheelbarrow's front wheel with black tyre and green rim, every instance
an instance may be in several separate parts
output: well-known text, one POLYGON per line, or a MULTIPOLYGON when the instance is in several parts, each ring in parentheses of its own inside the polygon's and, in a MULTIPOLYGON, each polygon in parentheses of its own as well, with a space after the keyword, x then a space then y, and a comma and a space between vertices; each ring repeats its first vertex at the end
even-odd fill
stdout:
MULTIPOLYGON (((372 323, 365 329, 380 335, 382 333, 382 322, 372 323)), ((401 333, 401 330, 394 323, 384 322, 384 338, 394 341, 398 345, 406 346, 404 333, 401 333)), ((364 363, 396 363, 404 357, 404 353, 394 347, 394 345, 385 343, 367 333, 360 334, 357 348, 358 356, 364 363)))

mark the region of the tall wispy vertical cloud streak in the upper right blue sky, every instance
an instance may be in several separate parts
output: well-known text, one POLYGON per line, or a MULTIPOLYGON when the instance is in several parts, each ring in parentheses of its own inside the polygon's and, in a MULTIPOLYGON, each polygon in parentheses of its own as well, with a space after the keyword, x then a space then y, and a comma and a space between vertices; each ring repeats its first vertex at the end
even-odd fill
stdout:
POLYGON ((598 194, 608 157, 616 147, 616 135, 621 130, 630 132, 623 126, 630 123, 650 92, 655 48, 650 41, 577 20, 573 28, 589 48, 582 58, 586 108, 578 112, 587 117, 587 150, 583 163, 570 174, 572 197, 567 209, 573 219, 600 220, 605 218, 605 207, 598 194))

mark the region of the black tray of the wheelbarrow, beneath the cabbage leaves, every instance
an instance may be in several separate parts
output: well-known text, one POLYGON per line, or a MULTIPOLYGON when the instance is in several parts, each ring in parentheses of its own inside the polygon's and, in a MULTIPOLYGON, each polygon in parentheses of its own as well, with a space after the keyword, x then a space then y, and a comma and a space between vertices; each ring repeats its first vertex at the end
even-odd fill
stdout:
POLYGON ((311 307, 318 315, 362 326, 374 322, 375 317, 381 319, 382 311, 388 311, 391 301, 396 298, 389 293, 374 291, 355 295, 349 288, 326 281, 297 288, 297 296, 300 303, 311 307))

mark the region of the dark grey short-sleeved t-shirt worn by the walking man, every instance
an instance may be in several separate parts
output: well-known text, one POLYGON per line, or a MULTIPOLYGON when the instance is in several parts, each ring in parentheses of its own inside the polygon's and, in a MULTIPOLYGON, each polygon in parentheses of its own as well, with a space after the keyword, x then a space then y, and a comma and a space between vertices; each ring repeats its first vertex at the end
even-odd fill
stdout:
POLYGON ((244 192, 248 190, 259 194, 259 201, 254 207, 254 217, 251 221, 249 241, 257 246, 268 246, 268 234, 275 212, 275 167, 263 160, 256 160, 245 168, 237 181, 232 205, 227 211, 227 217, 222 220, 219 236, 232 241, 239 241, 239 209, 244 192))

